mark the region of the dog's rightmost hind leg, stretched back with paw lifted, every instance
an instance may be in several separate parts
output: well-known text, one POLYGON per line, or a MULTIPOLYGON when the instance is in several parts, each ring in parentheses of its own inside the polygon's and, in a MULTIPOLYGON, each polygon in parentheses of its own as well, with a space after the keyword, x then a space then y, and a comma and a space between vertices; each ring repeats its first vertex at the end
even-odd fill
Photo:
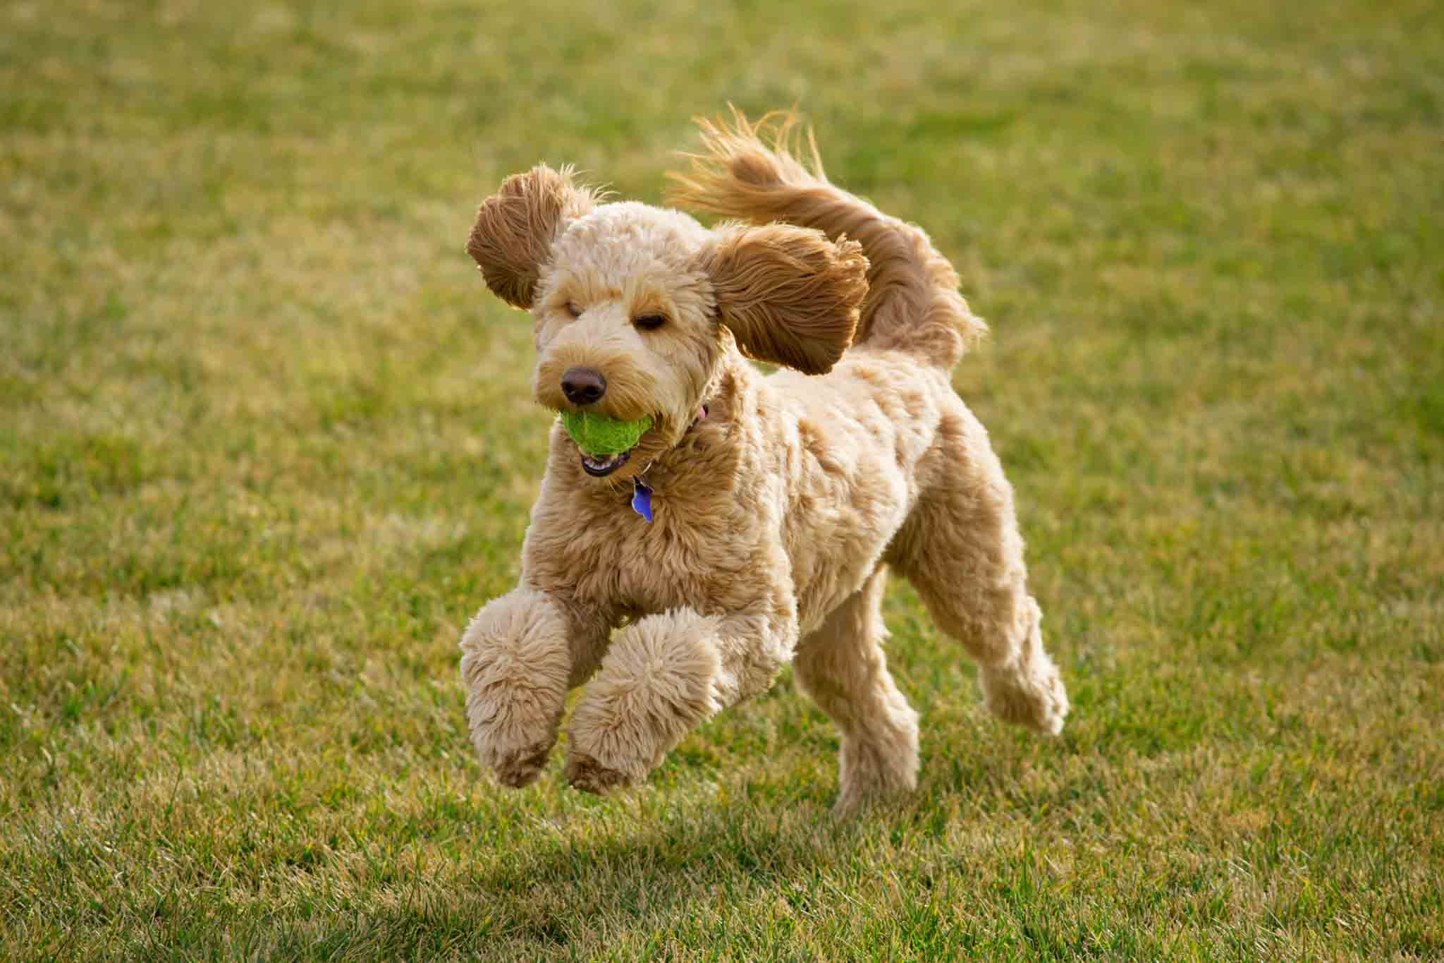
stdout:
POLYGON ((1043 612, 1028 595, 1012 487, 986 430, 960 403, 944 416, 933 458, 927 474, 936 481, 887 559, 937 627, 978 660, 988 709, 1057 735, 1069 697, 1043 650, 1043 612))

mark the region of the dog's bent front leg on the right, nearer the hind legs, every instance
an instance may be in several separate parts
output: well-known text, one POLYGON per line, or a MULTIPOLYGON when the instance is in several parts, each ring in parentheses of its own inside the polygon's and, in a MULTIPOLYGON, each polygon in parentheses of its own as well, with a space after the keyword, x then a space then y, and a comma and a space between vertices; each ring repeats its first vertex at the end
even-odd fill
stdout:
POLYGON ((640 783, 708 716, 764 692, 796 624, 764 615, 648 615, 622 631, 572 716, 566 780, 605 793, 640 783))

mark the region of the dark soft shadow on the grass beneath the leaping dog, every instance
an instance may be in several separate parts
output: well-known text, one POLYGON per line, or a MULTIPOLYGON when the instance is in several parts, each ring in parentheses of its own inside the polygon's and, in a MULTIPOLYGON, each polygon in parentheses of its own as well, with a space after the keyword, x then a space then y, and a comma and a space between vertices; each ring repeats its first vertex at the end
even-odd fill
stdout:
POLYGON ((858 840, 887 835, 897 819, 842 823, 822 800, 775 810, 741 800, 619 803, 630 811, 608 801, 544 836, 533 826, 501 859, 448 873, 445 885, 419 881, 390 907, 287 928, 264 949, 388 959, 595 959, 621 946, 631 954, 679 943, 736 949, 749 943, 758 911, 775 915, 777 899, 806 910, 826 881, 861 878, 858 840))

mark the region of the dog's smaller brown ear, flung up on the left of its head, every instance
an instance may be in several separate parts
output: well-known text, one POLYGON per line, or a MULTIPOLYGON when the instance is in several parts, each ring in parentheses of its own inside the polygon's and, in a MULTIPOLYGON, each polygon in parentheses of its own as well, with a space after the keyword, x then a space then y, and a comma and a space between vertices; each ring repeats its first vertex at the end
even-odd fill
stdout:
POLYGON ((537 165, 514 173, 477 211, 466 253, 487 287, 516 308, 530 308, 537 273, 552 260, 552 244, 567 221, 595 205, 595 193, 572 183, 570 167, 537 165))

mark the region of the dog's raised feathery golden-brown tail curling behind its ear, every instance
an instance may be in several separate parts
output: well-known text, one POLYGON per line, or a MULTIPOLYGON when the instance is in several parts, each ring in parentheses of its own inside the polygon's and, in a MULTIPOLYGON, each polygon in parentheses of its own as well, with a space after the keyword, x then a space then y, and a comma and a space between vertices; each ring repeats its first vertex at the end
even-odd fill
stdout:
POLYGON ((699 118, 703 153, 692 169, 669 173, 667 201, 695 211, 755 224, 787 221, 852 238, 868 257, 868 296, 853 344, 895 348, 952 368, 988 325, 957 293, 957 273, 921 228, 898 221, 827 183, 817 144, 807 134, 812 165, 797 160, 793 113, 749 123, 732 108, 732 123, 699 118))

